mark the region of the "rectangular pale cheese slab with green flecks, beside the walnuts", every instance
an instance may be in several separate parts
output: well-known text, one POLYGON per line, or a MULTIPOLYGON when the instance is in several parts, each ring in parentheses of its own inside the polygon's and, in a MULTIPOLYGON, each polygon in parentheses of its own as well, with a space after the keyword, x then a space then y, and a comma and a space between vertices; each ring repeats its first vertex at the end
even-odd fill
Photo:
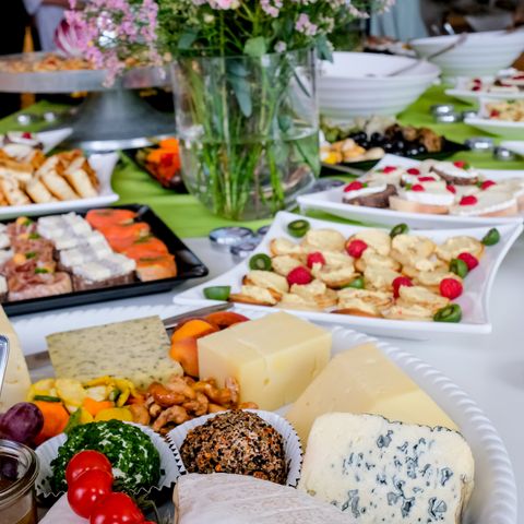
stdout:
POLYGON ((55 333, 47 338, 57 378, 86 381, 109 374, 139 388, 182 374, 169 357, 169 338, 158 317, 55 333))

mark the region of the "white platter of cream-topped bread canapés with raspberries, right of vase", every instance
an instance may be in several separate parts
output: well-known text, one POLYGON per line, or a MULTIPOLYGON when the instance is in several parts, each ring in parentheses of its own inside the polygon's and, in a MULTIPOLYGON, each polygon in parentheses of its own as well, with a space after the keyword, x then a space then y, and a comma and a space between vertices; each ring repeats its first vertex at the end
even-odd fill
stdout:
MULTIPOLYGON (((477 171, 475 168, 457 168, 455 164, 458 163, 439 162, 436 163, 434 166, 438 170, 441 169, 442 172, 444 172, 444 177, 448 170, 451 170, 454 175, 458 174, 463 176, 463 178, 467 177, 467 184, 450 184, 450 178, 448 177, 448 181, 445 181, 433 170, 428 160, 421 163, 420 160, 402 156, 385 155, 371 171, 357 179, 358 182, 369 183, 370 186, 369 188, 357 188, 365 196, 365 200, 359 201, 360 205, 344 202, 344 200, 350 201, 349 194, 352 194, 352 199, 360 196, 359 193, 354 193, 353 190, 349 191, 349 184, 319 193, 301 195, 298 198, 298 203, 302 212, 307 210, 318 210, 350 221, 388 226, 405 222, 414 228, 472 227, 489 224, 509 224, 514 221, 522 221, 524 206, 521 205, 521 210, 519 210, 519 202, 515 203, 515 201, 520 200, 521 193, 524 194, 524 170, 479 169, 477 171), (510 183, 510 179, 515 179, 515 184, 521 180, 523 184, 522 190, 515 186, 515 188, 511 188, 512 194, 507 194, 505 190, 502 191, 505 184, 510 183), (489 181, 488 184, 496 182, 488 187, 487 191, 477 187, 478 183, 486 180, 489 181), (416 194, 414 194, 413 191, 407 191, 408 183, 412 187, 417 183, 419 186, 417 189, 421 188, 424 191, 415 191, 416 194), (433 188, 433 186, 438 186, 439 183, 442 187, 433 188), (390 184, 394 187, 397 193, 396 196, 403 195, 402 200, 395 199, 395 209, 391 209, 391 204, 386 202, 377 200, 378 198, 382 199, 382 196, 386 199, 391 196, 391 194, 389 194, 392 191, 390 184), (405 186, 405 188, 402 186, 405 186), (451 193, 450 190, 454 190, 455 192, 451 193), (496 200, 495 203, 485 202, 484 193, 487 192, 490 193, 489 198, 496 200), (495 192, 498 194, 495 195, 495 192), (353 194, 355 194, 355 196, 353 196, 353 194), (425 205, 424 201, 418 202, 415 200, 422 199, 426 195, 432 198, 433 194, 445 200, 443 203, 451 204, 446 206, 448 210, 445 207, 441 209, 440 206, 436 209, 433 205, 425 205), (476 195, 475 198, 478 199, 479 202, 477 202, 476 205, 457 205, 461 203, 463 195, 476 195), (481 195, 481 198, 479 195, 481 195), (413 202, 404 202, 404 199, 414 200, 413 202), (492 207, 485 211, 485 213, 490 216, 480 216, 480 214, 484 215, 480 205, 485 203, 492 207), (372 205, 390 205, 390 207, 384 209, 372 205), (497 210, 497 206, 500 206, 500 210, 497 210), (451 209, 453 210, 453 214, 450 213, 451 209), (499 211, 499 213, 497 213, 499 216, 492 216, 493 213, 491 212, 493 209, 496 212, 499 211), (469 215, 469 213, 476 213, 477 211, 480 213, 469 215), (514 213, 514 215, 511 215, 511 213, 514 213), (504 216, 507 214, 510 214, 510 216, 504 216)), ((466 166, 466 164, 462 163, 461 165, 463 165, 463 167, 466 166)))

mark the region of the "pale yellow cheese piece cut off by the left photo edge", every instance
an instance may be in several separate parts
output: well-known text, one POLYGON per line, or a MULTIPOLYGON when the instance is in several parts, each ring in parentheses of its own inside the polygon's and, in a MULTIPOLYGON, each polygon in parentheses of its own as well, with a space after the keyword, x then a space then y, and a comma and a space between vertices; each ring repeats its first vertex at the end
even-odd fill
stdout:
POLYGON ((0 333, 9 338, 8 369, 0 395, 0 413, 4 413, 13 404, 25 401, 31 386, 31 378, 19 337, 1 306, 0 333))

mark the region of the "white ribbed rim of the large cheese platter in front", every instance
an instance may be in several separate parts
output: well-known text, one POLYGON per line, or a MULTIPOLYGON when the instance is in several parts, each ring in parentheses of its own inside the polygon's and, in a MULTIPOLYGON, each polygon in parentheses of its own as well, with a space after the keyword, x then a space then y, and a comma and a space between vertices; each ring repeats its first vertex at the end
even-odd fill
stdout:
MULTIPOLYGON (((34 353, 46 347, 43 333, 145 318, 151 314, 166 318, 186 310, 187 308, 176 306, 80 310, 72 313, 38 315, 14 322, 14 326, 22 340, 24 353, 34 353), (33 338, 33 334, 37 338, 33 338)), ((252 319, 264 314, 243 307, 235 307, 235 310, 252 319)), ((512 465, 497 429, 476 403, 444 374, 409 353, 342 326, 332 326, 331 331, 332 354, 374 342, 388 358, 417 382, 456 422, 475 458, 475 488, 463 524, 516 524, 516 486, 512 465)), ((49 377, 49 372, 52 373, 52 369, 48 368, 47 374, 34 379, 49 377)))

